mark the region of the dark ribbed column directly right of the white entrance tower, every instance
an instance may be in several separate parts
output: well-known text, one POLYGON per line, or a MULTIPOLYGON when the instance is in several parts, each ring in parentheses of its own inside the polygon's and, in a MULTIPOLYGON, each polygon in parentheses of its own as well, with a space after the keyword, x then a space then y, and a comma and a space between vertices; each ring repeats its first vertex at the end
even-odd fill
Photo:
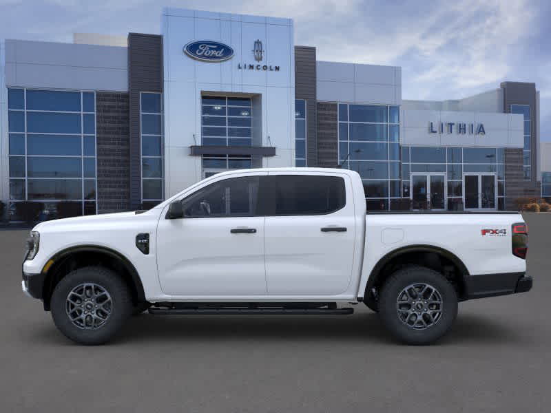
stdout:
POLYGON ((306 166, 318 165, 315 47, 295 46, 295 98, 306 100, 306 166))

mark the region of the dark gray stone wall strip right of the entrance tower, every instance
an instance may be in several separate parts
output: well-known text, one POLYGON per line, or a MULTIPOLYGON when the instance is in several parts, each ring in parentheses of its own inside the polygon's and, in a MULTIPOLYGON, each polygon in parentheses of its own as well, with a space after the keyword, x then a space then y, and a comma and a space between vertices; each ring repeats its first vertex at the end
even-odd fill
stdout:
POLYGON ((337 104, 318 102, 318 167, 338 165, 337 104))

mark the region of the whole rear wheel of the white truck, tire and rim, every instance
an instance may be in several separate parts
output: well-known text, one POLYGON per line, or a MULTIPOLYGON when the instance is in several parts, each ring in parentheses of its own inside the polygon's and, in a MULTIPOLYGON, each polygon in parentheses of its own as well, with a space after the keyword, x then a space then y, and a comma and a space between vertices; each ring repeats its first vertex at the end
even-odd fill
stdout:
POLYGON ((384 326, 404 343, 435 342, 457 317, 457 293, 437 271, 406 266, 388 277, 378 309, 384 326))

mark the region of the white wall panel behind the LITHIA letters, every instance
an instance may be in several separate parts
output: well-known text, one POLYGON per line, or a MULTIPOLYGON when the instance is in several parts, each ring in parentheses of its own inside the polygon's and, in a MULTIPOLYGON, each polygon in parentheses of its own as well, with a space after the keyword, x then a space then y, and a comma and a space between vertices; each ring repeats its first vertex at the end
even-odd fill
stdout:
POLYGON ((451 112, 402 109, 400 111, 402 145, 448 147, 512 147, 522 148, 523 117, 518 114, 451 112), (452 133, 444 125, 444 133, 430 133, 430 123, 439 131, 440 123, 455 123, 452 133), (467 133, 457 133, 457 123, 467 124, 467 133), (469 124, 484 125, 485 134, 470 134, 469 124))

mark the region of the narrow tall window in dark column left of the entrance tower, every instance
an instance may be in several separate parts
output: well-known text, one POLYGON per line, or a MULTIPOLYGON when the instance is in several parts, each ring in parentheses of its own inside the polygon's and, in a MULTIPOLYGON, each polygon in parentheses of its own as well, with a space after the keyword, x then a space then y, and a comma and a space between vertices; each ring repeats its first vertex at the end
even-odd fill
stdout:
POLYGON ((164 199, 163 191, 163 95, 141 92, 142 204, 153 207, 164 199))

